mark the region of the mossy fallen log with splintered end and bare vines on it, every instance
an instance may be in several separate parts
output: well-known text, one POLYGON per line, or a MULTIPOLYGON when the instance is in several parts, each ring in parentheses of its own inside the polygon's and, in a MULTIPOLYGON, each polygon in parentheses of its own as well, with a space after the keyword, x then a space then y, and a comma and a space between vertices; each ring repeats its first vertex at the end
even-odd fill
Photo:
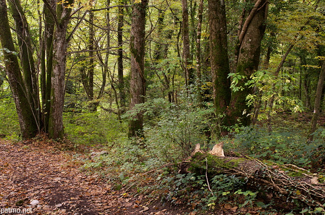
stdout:
MULTIPOLYGON (((216 146, 215 146, 216 147, 216 146)), ((179 165, 180 173, 207 174, 212 178, 217 174, 245 177, 250 183, 258 183, 267 190, 296 199, 314 207, 325 205, 325 184, 321 177, 293 164, 280 165, 248 156, 222 157, 220 144, 216 148, 218 156, 205 153, 196 146, 191 157, 179 165)))

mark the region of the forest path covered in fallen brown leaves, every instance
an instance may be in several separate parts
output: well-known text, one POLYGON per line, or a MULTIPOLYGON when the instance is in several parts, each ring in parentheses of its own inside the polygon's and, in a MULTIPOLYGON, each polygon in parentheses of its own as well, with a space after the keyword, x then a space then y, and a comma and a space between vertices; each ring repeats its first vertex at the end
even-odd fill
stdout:
POLYGON ((115 191, 80 171, 73 154, 47 141, 0 139, 0 214, 188 214, 184 207, 149 205, 143 195, 115 191))

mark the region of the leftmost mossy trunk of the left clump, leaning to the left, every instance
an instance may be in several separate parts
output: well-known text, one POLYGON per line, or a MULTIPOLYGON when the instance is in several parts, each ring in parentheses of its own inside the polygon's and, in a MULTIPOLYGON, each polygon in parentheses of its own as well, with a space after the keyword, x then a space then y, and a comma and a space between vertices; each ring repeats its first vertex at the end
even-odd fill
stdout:
POLYGON ((0 0, 0 14, 0 42, 4 52, 6 73, 16 104, 21 136, 24 139, 31 138, 39 130, 38 123, 34 116, 35 110, 31 109, 31 106, 28 105, 27 92, 24 87, 25 84, 20 73, 19 62, 11 36, 5 0, 0 0))

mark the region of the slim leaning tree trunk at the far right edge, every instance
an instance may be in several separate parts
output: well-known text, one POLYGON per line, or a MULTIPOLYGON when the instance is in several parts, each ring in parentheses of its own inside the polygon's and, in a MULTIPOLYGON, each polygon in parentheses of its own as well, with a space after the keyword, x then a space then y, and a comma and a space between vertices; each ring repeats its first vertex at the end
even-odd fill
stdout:
POLYGON ((325 79, 325 60, 322 63, 320 74, 319 74, 319 79, 317 83, 317 89, 316 89, 316 97, 315 97, 315 105, 314 105, 314 114, 313 118, 311 119, 310 123, 310 129, 309 129, 309 135, 308 135, 308 141, 313 140, 313 135, 312 133, 315 132, 316 130, 316 125, 317 125, 317 120, 319 116, 319 108, 320 108, 320 101, 321 101, 321 95, 322 95, 322 88, 324 84, 324 79, 325 79))

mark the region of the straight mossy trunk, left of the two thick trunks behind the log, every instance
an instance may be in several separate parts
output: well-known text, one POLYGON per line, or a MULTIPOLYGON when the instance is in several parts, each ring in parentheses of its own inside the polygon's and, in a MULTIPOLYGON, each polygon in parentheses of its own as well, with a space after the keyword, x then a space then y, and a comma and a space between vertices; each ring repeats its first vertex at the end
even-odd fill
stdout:
MULTIPOLYGON (((208 1, 210 24, 210 61, 216 115, 225 114, 231 99, 227 28, 224 1, 208 1)), ((228 123, 228 119, 222 124, 228 123)))

